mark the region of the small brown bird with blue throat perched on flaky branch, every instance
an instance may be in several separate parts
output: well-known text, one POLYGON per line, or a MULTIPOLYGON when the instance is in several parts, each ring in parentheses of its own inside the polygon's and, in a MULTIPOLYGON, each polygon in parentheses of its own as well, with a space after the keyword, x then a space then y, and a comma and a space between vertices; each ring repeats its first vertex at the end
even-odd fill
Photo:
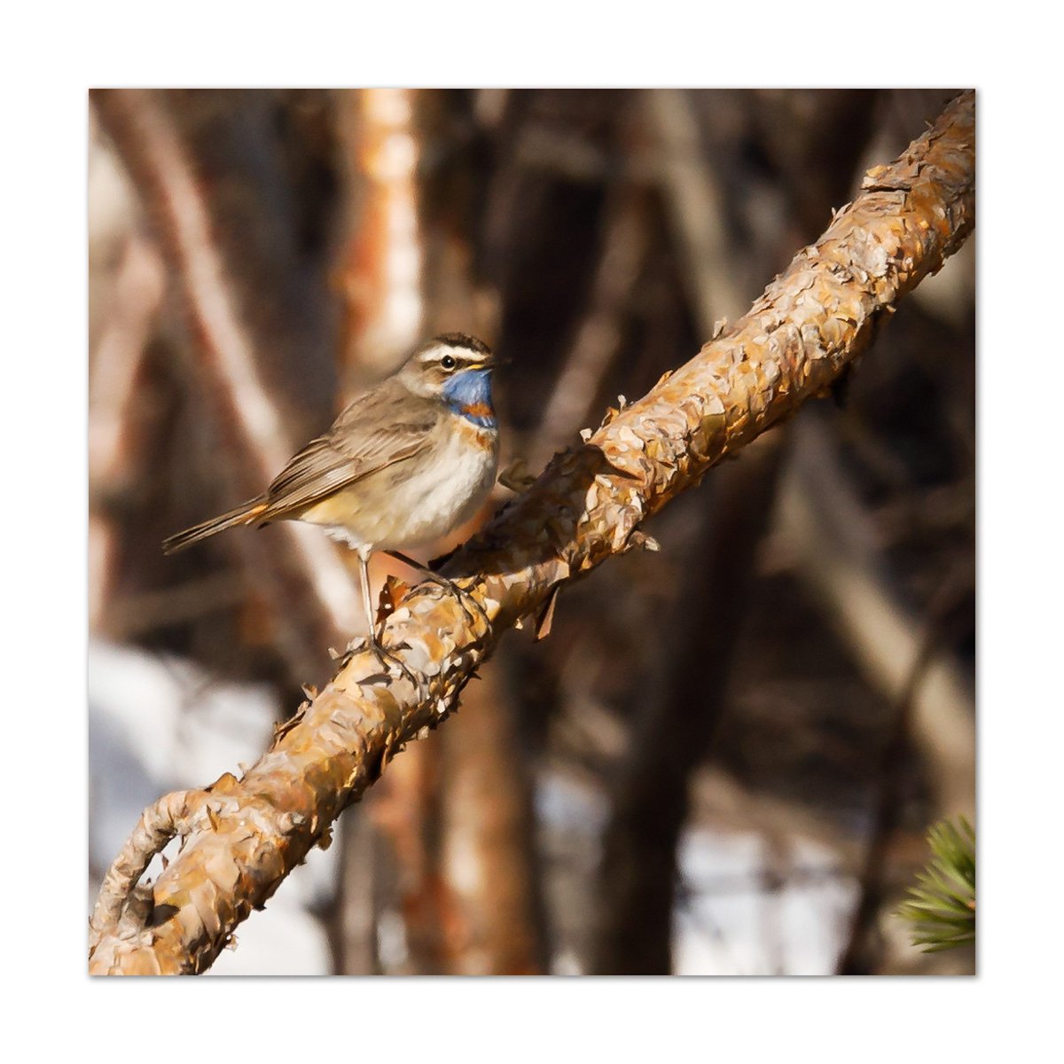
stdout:
POLYGON ((492 404, 494 365, 492 350, 472 336, 434 337, 349 403, 262 495, 170 536, 163 550, 172 554, 238 525, 319 525, 359 555, 369 639, 380 651, 369 556, 387 551, 450 585, 400 549, 456 528, 495 484, 499 426, 492 404))

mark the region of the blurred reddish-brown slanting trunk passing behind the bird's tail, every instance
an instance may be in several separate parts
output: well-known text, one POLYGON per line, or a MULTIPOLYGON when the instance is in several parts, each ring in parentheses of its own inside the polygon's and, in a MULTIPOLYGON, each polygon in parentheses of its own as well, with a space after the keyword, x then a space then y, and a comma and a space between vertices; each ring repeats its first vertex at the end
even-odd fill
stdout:
MULTIPOLYGON (((217 480, 237 499, 269 483, 299 439, 293 418, 271 393, 259 364, 270 339, 253 337, 229 281, 223 251, 213 233, 193 162, 165 102, 133 89, 102 90, 93 102, 121 153, 153 222, 186 315, 192 356, 188 371, 199 386, 200 409, 213 414, 220 449, 213 449, 217 480)), ((280 392, 280 389, 278 389, 280 392)), ((356 624, 353 585, 335 548, 295 522, 278 527, 280 550, 264 550, 260 537, 244 536, 235 549, 256 576, 297 682, 320 671, 322 648, 340 642, 356 624)))

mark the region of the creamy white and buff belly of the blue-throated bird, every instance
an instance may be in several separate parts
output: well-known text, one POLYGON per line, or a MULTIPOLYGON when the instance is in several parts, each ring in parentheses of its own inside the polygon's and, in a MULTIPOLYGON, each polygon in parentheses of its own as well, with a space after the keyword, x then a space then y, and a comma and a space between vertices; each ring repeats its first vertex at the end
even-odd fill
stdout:
POLYGON ((323 520, 323 512, 304 519, 325 525, 350 547, 375 550, 416 547, 468 520, 495 484, 498 435, 455 420, 460 423, 442 433, 432 458, 422 452, 339 493, 340 521, 323 520))

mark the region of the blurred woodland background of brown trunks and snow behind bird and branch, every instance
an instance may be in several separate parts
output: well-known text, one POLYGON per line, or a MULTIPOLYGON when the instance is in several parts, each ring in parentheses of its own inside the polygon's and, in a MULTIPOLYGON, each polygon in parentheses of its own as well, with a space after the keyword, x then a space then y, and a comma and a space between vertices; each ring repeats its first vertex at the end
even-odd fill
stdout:
MULTIPOLYGON (((361 631, 316 530, 165 536, 443 331, 510 360, 503 465, 537 473, 953 95, 90 94, 89 902, 143 808, 254 762, 361 631)), ((975 812, 974 244, 659 553, 509 633, 212 971, 974 971, 892 915, 975 812)))

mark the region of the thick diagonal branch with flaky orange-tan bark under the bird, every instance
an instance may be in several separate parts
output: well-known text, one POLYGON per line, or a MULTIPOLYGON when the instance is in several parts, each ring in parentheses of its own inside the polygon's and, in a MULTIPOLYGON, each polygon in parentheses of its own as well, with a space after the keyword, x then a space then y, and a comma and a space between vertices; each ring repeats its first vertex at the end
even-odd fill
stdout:
POLYGON ((822 393, 974 223, 975 96, 967 93, 899 160, 869 171, 861 196, 729 332, 642 400, 611 412, 582 447, 555 455, 454 555, 447 571, 465 578, 489 627, 444 588, 413 588, 385 626, 396 659, 386 670, 352 645, 332 682, 278 729, 243 779, 227 774, 189 799, 178 821, 182 851, 154 883, 147 918, 116 919, 122 899, 116 905, 101 892, 89 970, 209 967, 403 745, 455 708, 506 628, 537 613, 566 581, 637 545, 633 533, 646 517, 822 393))

